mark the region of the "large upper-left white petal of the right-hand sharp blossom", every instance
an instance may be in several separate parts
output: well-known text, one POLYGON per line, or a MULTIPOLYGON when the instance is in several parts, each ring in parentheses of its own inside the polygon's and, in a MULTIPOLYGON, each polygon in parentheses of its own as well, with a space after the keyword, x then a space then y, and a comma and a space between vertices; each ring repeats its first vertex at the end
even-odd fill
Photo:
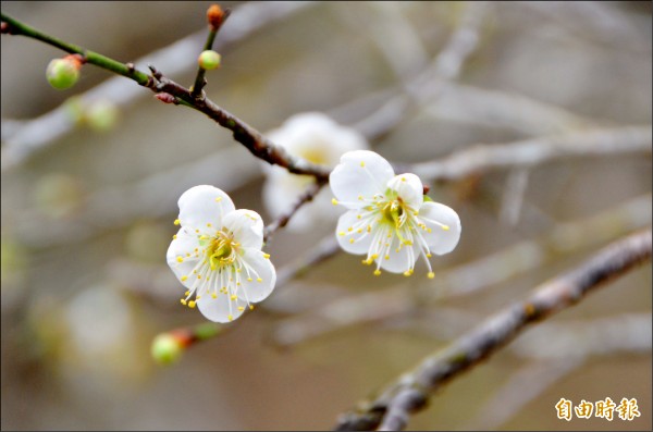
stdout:
POLYGON ((394 177, 390 162, 373 151, 348 151, 341 157, 341 163, 331 172, 329 185, 336 199, 358 208, 364 203, 359 196, 371 198, 384 194, 387 182, 394 177))

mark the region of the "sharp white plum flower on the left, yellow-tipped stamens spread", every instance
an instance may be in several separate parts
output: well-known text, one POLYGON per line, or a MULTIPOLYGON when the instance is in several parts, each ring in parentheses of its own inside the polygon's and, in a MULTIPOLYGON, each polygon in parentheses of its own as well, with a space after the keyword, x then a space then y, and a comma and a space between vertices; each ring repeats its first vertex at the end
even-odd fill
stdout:
POLYGON ((236 210, 229 195, 208 185, 186 190, 178 206, 181 227, 167 260, 187 288, 182 305, 227 322, 272 293, 276 272, 261 251, 263 222, 257 212, 236 210))

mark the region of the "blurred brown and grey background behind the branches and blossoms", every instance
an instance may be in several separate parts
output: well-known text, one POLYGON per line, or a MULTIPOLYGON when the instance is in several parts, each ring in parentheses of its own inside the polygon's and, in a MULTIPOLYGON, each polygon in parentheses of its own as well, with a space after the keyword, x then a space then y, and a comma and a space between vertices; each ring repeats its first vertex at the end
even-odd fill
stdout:
MULTIPOLYGON (((207 95, 263 132, 304 111, 362 127, 469 25, 478 40, 459 73, 427 81, 438 85, 433 97, 390 127, 374 123, 375 151, 411 163, 478 144, 650 131, 651 2, 472 3, 224 2, 234 13, 218 36, 223 65, 208 74, 207 95), (478 8, 471 24, 470 8, 478 8)), ((1 8, 140 70, 139 59, 155 53, 156 66, 190 85, 210 4, 1 8)), ((73 89, 54 90, 45 70, 60 51, 24 37, 1 40, 3 430, 330 429, 484 317, 651 224, 650 140, 642 151, 431 184, 431 196, 463 221, 457 249, 431 260, 435 280, 421 264, 410 280, 374 277, 358 257, 341 254, 161 367, 150 357, 152 338, 204 320, 178 305, 182 288, 164 261, 176 200, 212 184, 269 222, 260 161, 201 114, 97 67, 85 66, 73 89), (74 123, 97 100, 114 104, 116 123, 74 123), (23 153, 29 143, 40 147, 23 153), (540 254, 528 271, 491 283, 518 269, 520 254, 473 266, 520 244, 540 254), (464 295, 464 281, 482 289, 464 295), (385 292, 375 303, 360 297, 385 292), (421 301, 424 292, 434 298, 421 301), (409 307, 396 307, 399 298, 409 307)), ((268 248, 276 268, 306 256, 334 226, 280 231, 268 248)), ((651 379, 646 263, 447 384, 409 428, 650 430, 651 379), (567 422, 554 409, 562 397, 637 398, 641 417, 567 422)))

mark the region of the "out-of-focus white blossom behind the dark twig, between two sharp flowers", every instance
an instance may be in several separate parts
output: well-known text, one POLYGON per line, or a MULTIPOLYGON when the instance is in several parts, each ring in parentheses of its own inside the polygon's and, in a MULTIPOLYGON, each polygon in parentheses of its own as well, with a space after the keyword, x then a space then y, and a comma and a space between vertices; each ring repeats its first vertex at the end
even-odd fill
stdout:
MULTIPOLYGON (((344 152, 368 148, 367 140, 357 131, 342 126, 320 112, 295 114, 266 136, 289 155, 329 168, 335 166, 344 152)), ((264 170, 263 202, 272 218, 287 212, 313 182, 310 175, 291 174, 276 165, 266 164, 264 170)), ((332 208, 330 198, 329 192, 322 189, 310 205, 297 211, 286 227, 301 232, 317 221, 335 221, 337 212, 332 208)))

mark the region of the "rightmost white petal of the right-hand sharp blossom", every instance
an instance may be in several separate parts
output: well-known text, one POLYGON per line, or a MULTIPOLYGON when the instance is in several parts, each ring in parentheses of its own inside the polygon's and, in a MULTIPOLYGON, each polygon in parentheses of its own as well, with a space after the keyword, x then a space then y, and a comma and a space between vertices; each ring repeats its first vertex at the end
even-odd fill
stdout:
POLYGON ((431 230, 430 233, 421 233, 433 254, 444 255, 454 250, 461 231, 458 213, 440 202, 427 201, 419 210, 419 219, 431 230))

